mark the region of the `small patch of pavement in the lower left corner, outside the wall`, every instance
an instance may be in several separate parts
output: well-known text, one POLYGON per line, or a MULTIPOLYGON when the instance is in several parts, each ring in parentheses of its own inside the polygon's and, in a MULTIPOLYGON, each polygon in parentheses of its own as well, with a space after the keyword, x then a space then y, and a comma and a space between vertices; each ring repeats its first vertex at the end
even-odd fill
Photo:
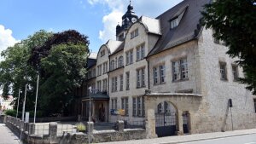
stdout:
POLYGON ((18 144, 19 138, 5 124, 0 123, 0 144, 18 144))

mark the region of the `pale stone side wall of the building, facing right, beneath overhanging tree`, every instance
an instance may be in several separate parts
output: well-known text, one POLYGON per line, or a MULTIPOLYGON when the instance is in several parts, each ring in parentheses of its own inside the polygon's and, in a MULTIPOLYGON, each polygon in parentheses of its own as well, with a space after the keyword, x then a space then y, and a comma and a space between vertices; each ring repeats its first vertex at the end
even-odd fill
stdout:
MULTIPOLYGON (((213 43, 211 29, 202 31, 198 41, 198 53, 201 94, 204 96, 200 111, 195 117, 195 132, 232 130, 232 124, 233 130, 256 128, 256 113, 253 107, 255 95, 245 89, 245 84, 234 80, 231 66, 238 59, 226 55, 227 50, 224 45, 213 43), (227 80, 220 79, 220 61, 226 63, 227 80), (228 107, 229 99, 232 99, 233 103, 231 109, 228 107)), ((242 78, 241 67, 238 67, 238 73, 242 78)))

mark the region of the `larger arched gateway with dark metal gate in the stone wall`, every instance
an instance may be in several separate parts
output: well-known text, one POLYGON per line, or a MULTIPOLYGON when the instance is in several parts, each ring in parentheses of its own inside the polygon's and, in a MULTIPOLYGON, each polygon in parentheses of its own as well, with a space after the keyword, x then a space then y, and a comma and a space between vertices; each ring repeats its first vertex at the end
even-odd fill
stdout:
POLYGON ((177 109, 171 102, 160 102, 155 109, 155 133, 158 137, 175 135, 177 109))

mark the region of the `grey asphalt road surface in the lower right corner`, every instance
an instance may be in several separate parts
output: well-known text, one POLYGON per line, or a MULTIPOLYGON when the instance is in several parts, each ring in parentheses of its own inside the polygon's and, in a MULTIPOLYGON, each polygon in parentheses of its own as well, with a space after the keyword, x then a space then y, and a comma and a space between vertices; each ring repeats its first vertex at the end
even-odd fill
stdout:
POLYGON ((256 144, 256 134, 231 136, 206 141, 185 142, 183 144, 256 144))

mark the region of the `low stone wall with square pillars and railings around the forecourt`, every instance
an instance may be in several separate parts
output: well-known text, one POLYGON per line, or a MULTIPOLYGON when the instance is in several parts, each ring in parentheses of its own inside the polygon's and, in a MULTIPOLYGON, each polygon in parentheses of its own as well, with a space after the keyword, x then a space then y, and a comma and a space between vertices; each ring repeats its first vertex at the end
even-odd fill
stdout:
POLYGON ((49 135, 34 135, 35 125, 22 122, 20 119, 13 117, 6 117, 5 124, 16 135, 22 135, 22 140, 29 144, 81 144, 107 141, 126 141, 137 140, 146 138, 145 129, 125 129, 124 121, 118 121, 116 130, 94 130, 94 123, 88 122, 86 125, 86 133, 67 133, 63 132, 62 135, 57 135, 57 124, 49 124, 49 135), (21 129, 20 129, 21 128, 21 129))

